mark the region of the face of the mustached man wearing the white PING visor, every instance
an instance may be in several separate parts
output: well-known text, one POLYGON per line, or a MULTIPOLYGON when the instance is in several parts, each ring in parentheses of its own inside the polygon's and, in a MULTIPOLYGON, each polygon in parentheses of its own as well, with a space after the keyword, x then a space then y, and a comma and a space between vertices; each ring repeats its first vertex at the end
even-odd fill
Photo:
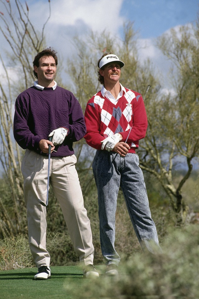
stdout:
POLYGON ((104 84, 117 82, 121 75, 120 65, 117 62, 108 63, 100 74, 104 77, 104 84))

